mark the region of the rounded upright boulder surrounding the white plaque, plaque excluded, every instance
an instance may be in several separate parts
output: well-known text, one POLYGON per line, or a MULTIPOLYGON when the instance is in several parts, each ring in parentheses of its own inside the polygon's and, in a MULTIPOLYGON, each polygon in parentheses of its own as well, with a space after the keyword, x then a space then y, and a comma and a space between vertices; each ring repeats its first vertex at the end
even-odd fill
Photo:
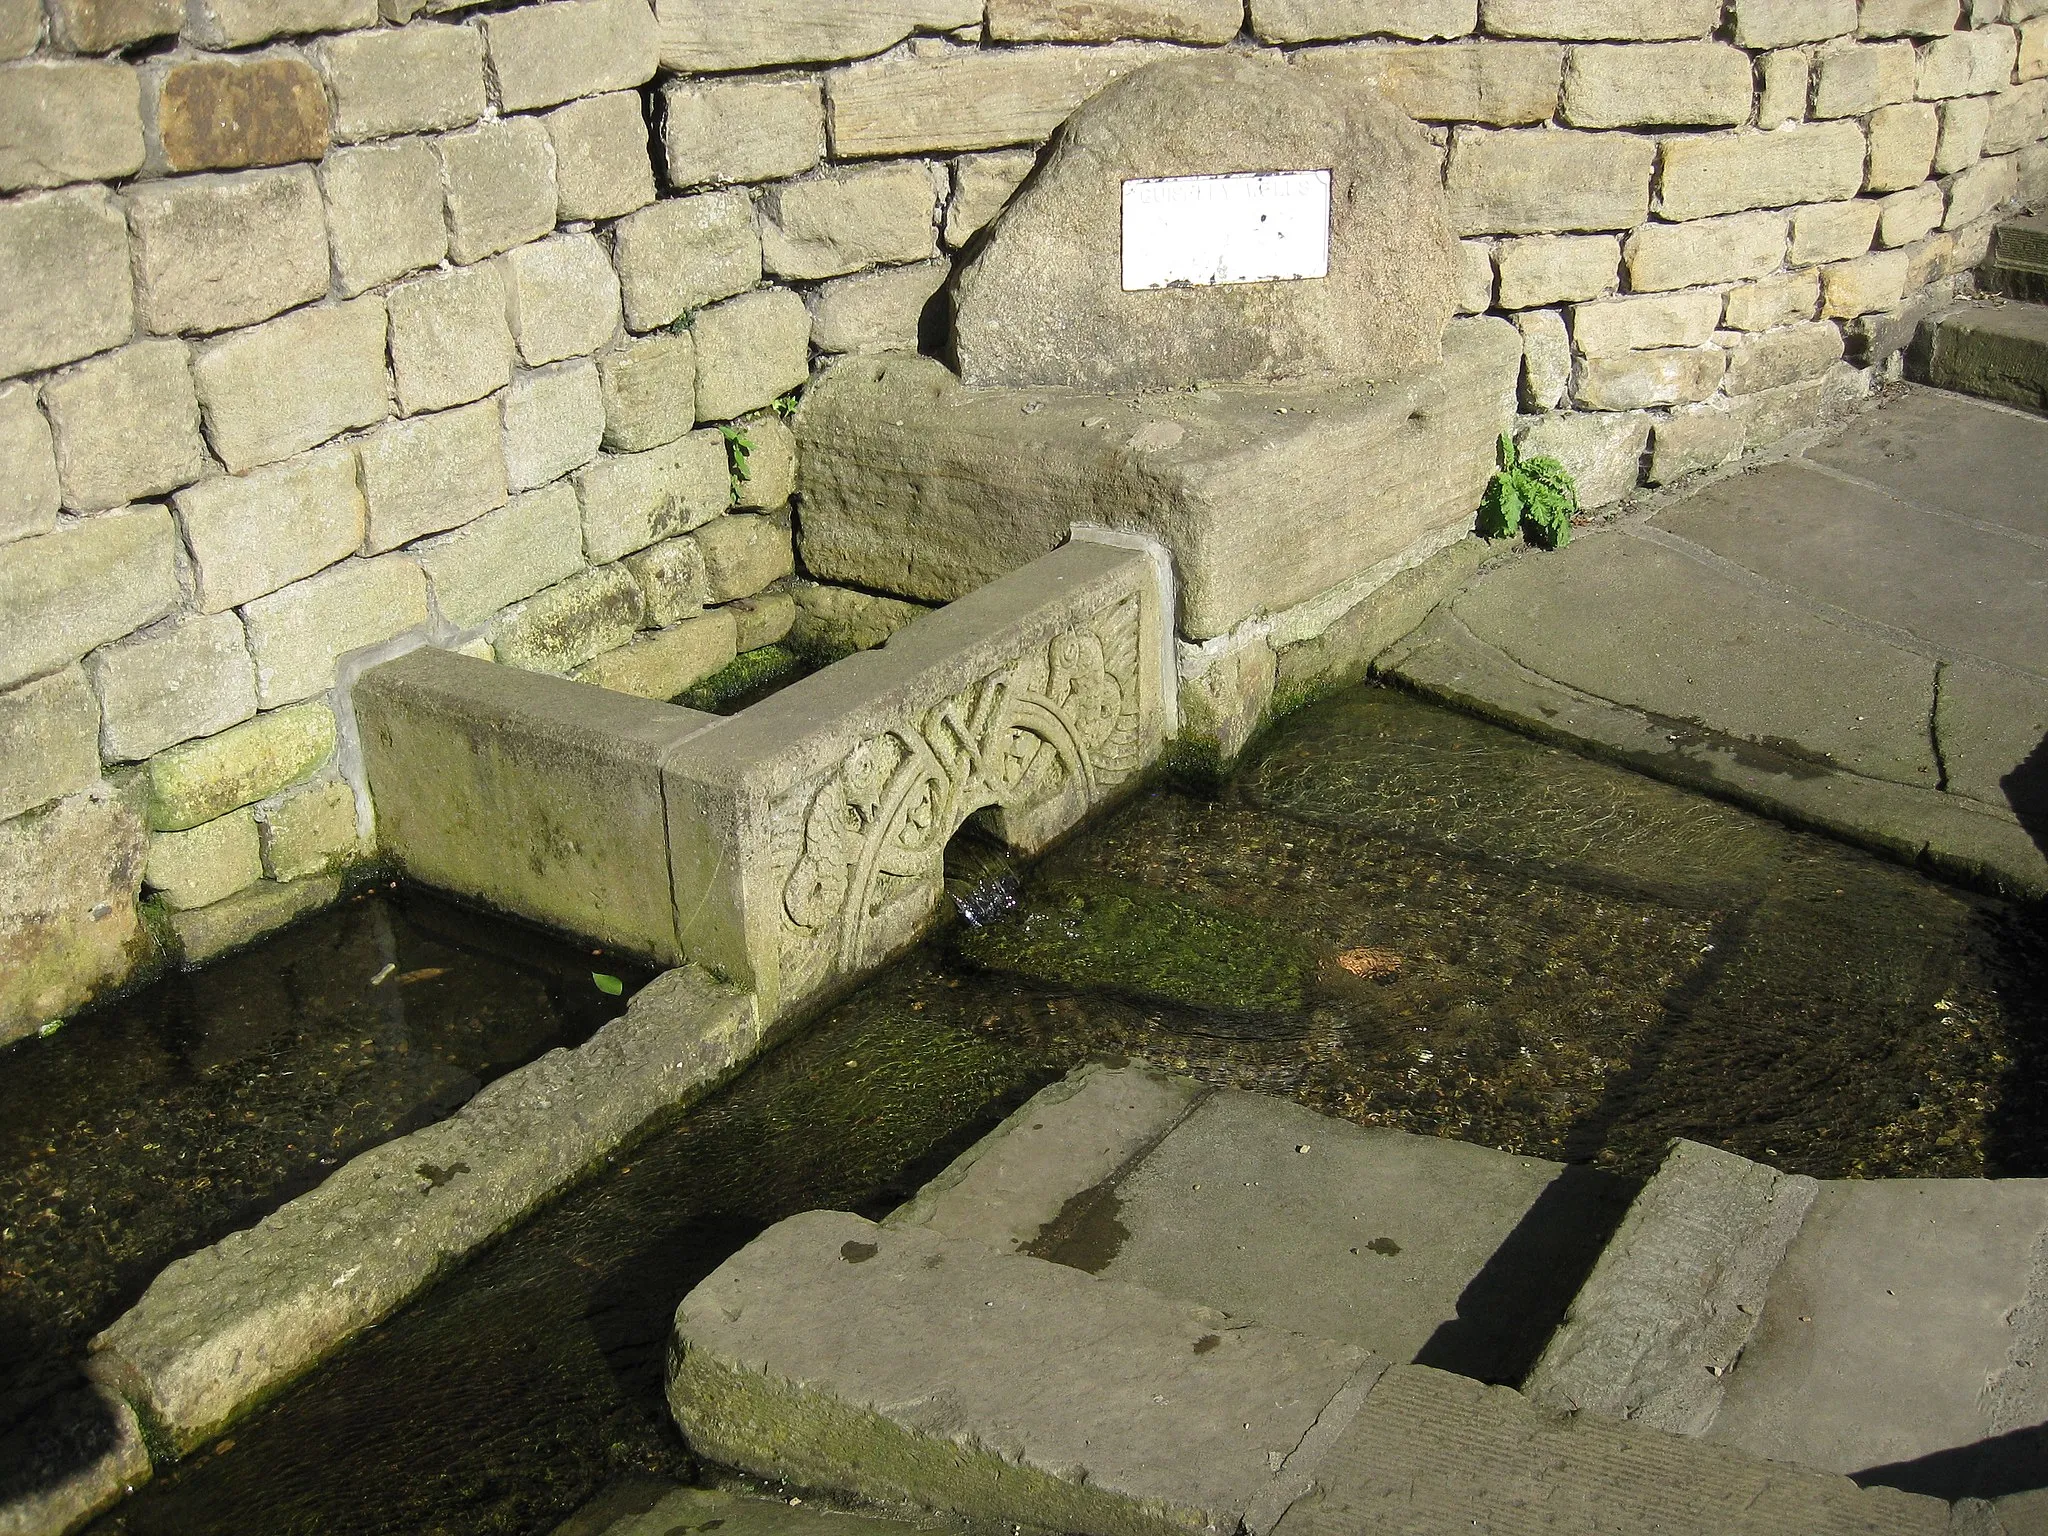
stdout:
POLYGON ((1280 59, 1149 63, 1059 133, 963 268, 969 385, 1182 389, 1393 379, 1438 358, 1458 274, 1436 156, 1372 90, 1280 59), (1329 274, 1124 291, 1124 182, 1329 170, 1329 274))

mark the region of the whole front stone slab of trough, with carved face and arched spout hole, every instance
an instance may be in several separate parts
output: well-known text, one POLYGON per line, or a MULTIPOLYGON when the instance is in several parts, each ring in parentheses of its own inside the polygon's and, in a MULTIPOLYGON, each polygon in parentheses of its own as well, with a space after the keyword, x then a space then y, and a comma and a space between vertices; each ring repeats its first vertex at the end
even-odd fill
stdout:
POLYGON ((913 942, 975 813, 1036 852, 1171 733, 1151 551, 1075 541, 678 743, 682 948, 782 1018, 913 942))

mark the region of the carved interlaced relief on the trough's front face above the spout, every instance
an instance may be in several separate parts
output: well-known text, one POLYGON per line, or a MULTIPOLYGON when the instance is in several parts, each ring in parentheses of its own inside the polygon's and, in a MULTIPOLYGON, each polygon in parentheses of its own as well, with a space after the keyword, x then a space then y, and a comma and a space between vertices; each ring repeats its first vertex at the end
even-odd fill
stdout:
POLYGON ((946 840, 975 811, 1073 795, 1079 813, 1137 772, 1139 643, 1130 598, 868 737, 772 807, 793 995, 870 958, 893 905, 934 899, 946 840))

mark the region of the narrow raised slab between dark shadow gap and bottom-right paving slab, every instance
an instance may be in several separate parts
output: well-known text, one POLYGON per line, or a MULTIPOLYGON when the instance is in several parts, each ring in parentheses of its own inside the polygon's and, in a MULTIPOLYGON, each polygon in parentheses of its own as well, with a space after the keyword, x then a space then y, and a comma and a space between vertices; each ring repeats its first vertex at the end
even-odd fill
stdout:
POLYGON ((1702 1434, 1819 1188, 1675 1141, 1522 1391, 1567 1413, 1702 1434))

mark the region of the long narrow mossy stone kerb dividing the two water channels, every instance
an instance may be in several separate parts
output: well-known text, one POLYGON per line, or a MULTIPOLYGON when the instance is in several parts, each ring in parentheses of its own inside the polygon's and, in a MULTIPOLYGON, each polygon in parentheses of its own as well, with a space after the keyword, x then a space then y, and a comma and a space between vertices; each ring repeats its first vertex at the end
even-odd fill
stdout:
POLYGON ((172 1264, 92 1341, 86 1368, 184 1454, 758 1047, 748 997, 692 971, 657 977, 575 1051, 172 1264))

